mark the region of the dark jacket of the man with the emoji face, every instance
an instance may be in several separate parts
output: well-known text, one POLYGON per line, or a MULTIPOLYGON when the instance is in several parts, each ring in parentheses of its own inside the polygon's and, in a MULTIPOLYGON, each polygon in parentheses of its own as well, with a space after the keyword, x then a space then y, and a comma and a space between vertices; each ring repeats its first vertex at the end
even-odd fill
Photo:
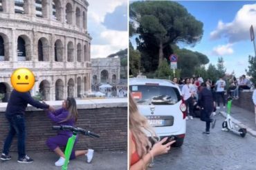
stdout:
POLYGON ((49 107, 49 105, 34 100, 31 97, 30 92, 18 92, 13 89, 6 108, 6 116, 10 117, 15 114, 25 114, 28 104, 40 109, 48 109, 49 107))

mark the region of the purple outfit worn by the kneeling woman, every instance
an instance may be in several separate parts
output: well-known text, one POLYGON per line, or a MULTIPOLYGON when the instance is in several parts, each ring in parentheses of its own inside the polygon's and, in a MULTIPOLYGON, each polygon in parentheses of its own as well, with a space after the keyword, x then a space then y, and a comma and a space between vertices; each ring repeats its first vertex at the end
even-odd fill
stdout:
MULTIPOLYGON (((68 117, 68 110, 62 108, 57 109, 55 112, 48 111, 48 118, 53 120, 57 125, 70 125, 73 126, 75 124, 75 120, 73 118, 69 120, 65 120, 68 117), (65 120, 64 122, 62 122, 65 120)), ((51 138, 48 138, 46 140, 46 145, 51 149, 52 151, 56 149, 57 147, 64 147, 66 146, 66 143, 68 142, 68 138, 72 136, 71 131, 58 131, 57 136, 53 136, 51 138)), ((75 140, 75 144, 77 142, 77 138, 75 140)), ((75 145, 73 147, 71 157, 70 159, 75 158, 75 145)))

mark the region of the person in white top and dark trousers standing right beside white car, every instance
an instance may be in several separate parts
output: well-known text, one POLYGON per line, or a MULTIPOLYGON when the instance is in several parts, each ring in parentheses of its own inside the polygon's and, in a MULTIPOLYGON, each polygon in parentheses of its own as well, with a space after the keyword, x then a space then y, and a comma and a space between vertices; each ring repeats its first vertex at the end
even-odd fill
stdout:
POLYGON ((193 98, 192 96, 194 95, 194 88, 192 87, 192 84, 190 84, 190 78, 185 78, 185 85, 183 85, 181 89, 181 94, 183 96, 183 99, 185 100, 185 105, 187 108, 189 108, 189 115, 188 115, 188 109, 187 109, 187 117, 193 119, 194 116, 194 105, 193 105, 193 98))

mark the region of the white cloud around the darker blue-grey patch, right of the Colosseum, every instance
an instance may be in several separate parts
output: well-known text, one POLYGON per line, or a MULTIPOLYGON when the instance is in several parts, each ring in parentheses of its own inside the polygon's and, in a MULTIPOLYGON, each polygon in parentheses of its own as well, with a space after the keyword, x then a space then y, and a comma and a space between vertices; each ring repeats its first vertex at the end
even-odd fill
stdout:
POLYGON ((105 15, 113 12, 117 6, 127 3, 127 0, 109 0, 106 3, 89 0, 88 31, 91 41, 91 58, 109 56, 128 47, 128 31, 108 30, 102 23, 105 15))

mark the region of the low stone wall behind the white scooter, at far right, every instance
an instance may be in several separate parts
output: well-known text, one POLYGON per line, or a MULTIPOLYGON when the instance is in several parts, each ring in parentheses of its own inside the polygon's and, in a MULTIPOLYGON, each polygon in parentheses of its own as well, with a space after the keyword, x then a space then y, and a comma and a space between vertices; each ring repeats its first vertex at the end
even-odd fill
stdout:
POLYGON ((253 104, 253 91, 244 90, 243 92, 239 92, 239 99, 232 100, 232 104, 236 105, 237 107, 241 107, 248 111, 251 111, 252 114, 255 112, 255 107, 253 104))

